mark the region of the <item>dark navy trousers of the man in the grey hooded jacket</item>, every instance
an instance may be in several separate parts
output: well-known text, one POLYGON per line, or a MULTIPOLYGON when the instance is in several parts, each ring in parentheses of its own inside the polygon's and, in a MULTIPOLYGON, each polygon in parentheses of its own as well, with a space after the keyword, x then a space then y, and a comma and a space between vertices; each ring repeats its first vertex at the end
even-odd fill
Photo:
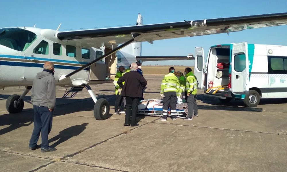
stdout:
POLYGON ((49 148, 48 135, 52 129, 53 112, 48 107, 33 106, 34 108, 34 129, 30 139, 29 147, 36 146, 40 133, 42 148, 49 148))

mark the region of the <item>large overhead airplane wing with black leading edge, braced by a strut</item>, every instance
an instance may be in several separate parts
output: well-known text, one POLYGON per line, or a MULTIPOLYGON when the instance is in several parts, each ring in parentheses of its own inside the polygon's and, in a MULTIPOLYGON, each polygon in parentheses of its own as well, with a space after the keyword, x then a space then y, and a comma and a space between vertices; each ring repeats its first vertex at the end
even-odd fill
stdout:
POLYGON ((237 32, 245 29, 287 24, 287 13, 249 15, 218 19, 203 19, 173 23, 127 26, 92 30, 58 32, 57 37, 75 46, 101 47, 123 44, 132 38, 136 42, 163 40, 185 36, 201 36, 237 32), (140 36, 135 37, 135 34, 140 36))

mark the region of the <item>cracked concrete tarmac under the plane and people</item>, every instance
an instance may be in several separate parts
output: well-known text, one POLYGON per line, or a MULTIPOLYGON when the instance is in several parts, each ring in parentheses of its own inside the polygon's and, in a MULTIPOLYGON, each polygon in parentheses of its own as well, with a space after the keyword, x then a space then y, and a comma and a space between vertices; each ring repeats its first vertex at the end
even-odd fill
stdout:
MULTIPOLYGON (((145 77, 144 97, 160 98, 163 76, 145 77)), ((287 99, 247 108, 241 100, 222 104, 199 91, 199 117, 192 121, 141 116, 139 126, 126 127, 124 114, 113 114, 113 83, 92 85, 110 103, 111 117, 102 121, 94 118, 88 91, 63 99, 65 88, 56 89, 49 142, 57 150, 50 153, 28 150, 30 93, 23 112, 9 114, 6 99, 24 88, 0 90, 0 171, 287 171, 287 99)))

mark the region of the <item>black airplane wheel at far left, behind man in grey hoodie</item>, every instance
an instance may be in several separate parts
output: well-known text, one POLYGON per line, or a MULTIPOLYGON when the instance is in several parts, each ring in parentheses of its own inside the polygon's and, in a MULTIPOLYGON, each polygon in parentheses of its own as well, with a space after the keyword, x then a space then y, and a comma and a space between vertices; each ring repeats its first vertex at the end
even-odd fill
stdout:
POLYGON ((24 107, 24 101, 18 100, 20 98, 20 95, 13 94, 8 97, 6 100, 6 110, 11 113, 20 113, 23 110, 24 107))

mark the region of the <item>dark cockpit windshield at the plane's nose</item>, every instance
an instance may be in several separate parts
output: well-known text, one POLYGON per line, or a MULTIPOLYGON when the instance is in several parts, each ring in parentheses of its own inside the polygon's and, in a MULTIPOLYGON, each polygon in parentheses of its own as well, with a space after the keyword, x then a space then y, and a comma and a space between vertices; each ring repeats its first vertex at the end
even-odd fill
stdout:
POLYGON ((20 28, 1 28, 0 45, 13 50, 25 51, 35 40, 37 36, 33 32, 20 28))

